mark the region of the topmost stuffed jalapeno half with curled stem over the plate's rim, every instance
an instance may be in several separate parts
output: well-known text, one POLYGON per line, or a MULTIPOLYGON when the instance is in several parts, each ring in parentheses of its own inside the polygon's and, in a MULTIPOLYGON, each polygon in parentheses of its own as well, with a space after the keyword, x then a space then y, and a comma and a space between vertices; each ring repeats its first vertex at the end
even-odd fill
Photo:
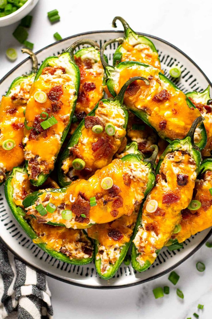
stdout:
POLYGON ((153 42, 143 35, 135 33, 121 17, 113 19, 112 26, 116 28, 116 20, 124 27, 124 41, 118 46, 113 56, 113 65, 124 61, 138 61, 161 69, 160 59, 153 42))

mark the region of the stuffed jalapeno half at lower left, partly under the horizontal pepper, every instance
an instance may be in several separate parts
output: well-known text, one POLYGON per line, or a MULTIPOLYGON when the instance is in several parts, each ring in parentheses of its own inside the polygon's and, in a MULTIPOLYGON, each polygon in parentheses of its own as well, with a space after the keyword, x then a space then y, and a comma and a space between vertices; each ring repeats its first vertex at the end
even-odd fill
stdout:
MULTIPOLYGON (((55 182, 51 184, 56 186, 55 182)), ((93 259, 92 240, 83 230, 59 226, 52 228, 39 224, 36 219, 25 214, 22 200, 32 189, 26 169, 14 167, 5 182, 5 197, 13 216, 25 233, 39 248, 62 262, 75 265, 90 263, 93 259)))

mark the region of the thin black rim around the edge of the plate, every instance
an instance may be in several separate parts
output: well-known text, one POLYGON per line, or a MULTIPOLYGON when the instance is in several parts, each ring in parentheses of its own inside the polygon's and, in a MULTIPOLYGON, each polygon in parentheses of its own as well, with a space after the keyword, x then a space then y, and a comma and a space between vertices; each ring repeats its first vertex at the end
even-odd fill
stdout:
MULTIPOLYGON (((54 46, 55 44, 59 43, 59 42, 63 42, 63 41, 66 41, 66 40, 69 40, 69 39, 72 39, 72 38, 75 38, 75 37, 78 37, 78 36, 82 36, 82 35, 89 35, 89 34, 95 34, 95 33, 123 33, 123 30, 122 31, 119 31, 119 30, 102 30, 102 31, 89 31, 89 32, 84 32, 84 33, 78 33, 78 34, 74 34, 70 37, 67 37, 63 40, 60 40, 60 41, 57 41, 57 42, 54 42, 52 44, 49 44, 47 45, 46 47, 40 49, 39 51, 35 52, 35 54, 38 54, 42 51, 44 51, 45 49, 49 48, 49 47, 52 47, 54 46)), ((161 38, 158 38, 154 35, 150 35, 150 34, 146 34, 146 33, 140 33, 140 32, 137 32, 138 34, 140 35, 144 35, 144 36, 147 36, 147 37, 150 37, 150 38, 153 38, 153 39, 156 39, 160 42, 163 42, 165 44, 167 44, 168 46, 170 46, 171 48, 174 48, 176 51, 180 52, 183 56, 185 56, 201 73, 202 75, 204 76, 204 78, 207 80, 207 82, 209 83, 209 85, 212 87, 212 83, 210 82, 209 78, 205 75, 205 73, 200 69, 200 67, 189 57, 187 56, 187 54, 185 54, 182 50, 180 50, 179 48, 175 47, 173 44, 169 43, 168 41, 165 41, 161 38)), ((20 62, 19 64, 17 64, 12 70, 10 70, 1 80, 0 80, 0 84, 11 74, 13 73, 13 71, 15 71, 19 66, 21 66, 23 63, 25 63, 27 60, 29 60, 30 57, 27 57, 26 59, 24 59, 24 61, 20 62)), ((72 284, 74 286, 79 286, 79 287, 85 287, 85 288, 93 288, 93 289, 118 289, 118 288, 124 288, 124 287, 132 287, 132 286, 136 286, 136 285, 140 285, 140 284, 143 284, 145 282, 148 282, 148 281, 151 281, 153 279, 156 279, 156 278, 159 278, 163 275, 165 275, 166 273, 168 273, 169 271, 172 271, 174 268, 178 267, 181 263, 183 263, 185 260, 187 260, 189 257, 191 257, 198 249, 200 249, 200 247, 202 247, 202 245, 207 241, 207 239, 211 236, 212 234, 212 229, 209 231, 209 233, 205 236, 205 238, 195 247, 195 249, 193 249, 187 256, 185 256, 183 259, 181 259, 178 263, 175 263, 172 267, 169 267, 168 269, 164 270, 164 271, 161 271, 159 272, 158 274, 152 276, 152 277, 149 277, 147 279, 141 279, 140 281, 138 282, 135 282, 135 283, 132 283, 132 284, 125 284, 125 285, 119 285, 119 286, 104 286, 104 284, 102 286, 89 286, 89 285, 86 285, 86 284, 79 284, 79 283, 75 283, 73 281, 71 281, 71 278, 70 280, 68 279, 65 279, 65 278, 60 278, 54 274, 51 274, 49 273, 48 271, 44 271, 34 265, 32 265, 30 262, 28 262, 27 260, 25 260, 24 258, 20 257, 17 252, 15 252, 11 247, 8 246, 8 244, 3 240, 3 238, 0 236, 1 240, 3 241, 3 243, 5 244, 5 246, 11 251, 11 253, 13 253, 13 255, 15 255, 20 261, 22 261, 23 263, 25 263, 26 265, 32 267, 33 269, 35 269, 36 271, 39 271, 41 273, 43 273, 44 275, 46 276, 49 276, 51 278, 54 278, 54 279, 57 279, 57 280, 60 280, 60 281, 63 281, 65 283, 68 283, 68 284, 72 284)))

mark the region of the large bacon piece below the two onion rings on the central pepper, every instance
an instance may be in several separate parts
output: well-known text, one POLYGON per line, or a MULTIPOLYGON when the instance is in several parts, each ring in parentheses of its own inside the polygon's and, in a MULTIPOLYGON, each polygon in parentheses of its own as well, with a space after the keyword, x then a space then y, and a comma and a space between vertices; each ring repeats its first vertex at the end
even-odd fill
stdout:
MULTIPOLYGON (((87 116, 86 116, 87 117, 87 116)), ((96 159, 108 157, 113 149, 113 144, 109 137, 99 137, 98 140, 92 144, 92 151, 96 159)))

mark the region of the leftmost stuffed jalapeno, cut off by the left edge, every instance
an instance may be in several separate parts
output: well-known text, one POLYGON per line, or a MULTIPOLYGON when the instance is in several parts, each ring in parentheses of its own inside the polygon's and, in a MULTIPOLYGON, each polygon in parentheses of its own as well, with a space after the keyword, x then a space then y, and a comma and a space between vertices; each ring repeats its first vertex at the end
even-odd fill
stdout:
POLYGON ((2 97, 0 104, 0 183, 4 182, 6 173, 24 161, 24 112, 29 92, 38 68, 36 56, 28 49, 33 62, 32 71, 16 78, 2 97))

